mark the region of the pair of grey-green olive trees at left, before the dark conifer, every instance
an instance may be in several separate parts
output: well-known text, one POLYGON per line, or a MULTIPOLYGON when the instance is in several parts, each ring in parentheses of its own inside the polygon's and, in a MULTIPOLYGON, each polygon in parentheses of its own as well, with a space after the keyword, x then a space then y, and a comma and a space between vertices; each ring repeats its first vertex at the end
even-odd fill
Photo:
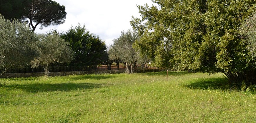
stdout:
POLYGON ((73 51, 57 33, 36 34, 24 23, 0 16, 0 74, 13 67, 43 66, 45 75, 56 62, 71 62, 73 51))

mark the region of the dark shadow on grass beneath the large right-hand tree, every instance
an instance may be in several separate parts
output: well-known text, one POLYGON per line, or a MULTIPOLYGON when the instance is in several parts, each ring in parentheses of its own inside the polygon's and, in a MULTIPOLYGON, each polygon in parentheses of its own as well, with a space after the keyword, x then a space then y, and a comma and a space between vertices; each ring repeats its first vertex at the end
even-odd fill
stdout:
POLYGON ((202 78, 197 81, 190 81, 184 87, 191 89, 221 89, 228 90, 228 81, 225 78, 202 78))

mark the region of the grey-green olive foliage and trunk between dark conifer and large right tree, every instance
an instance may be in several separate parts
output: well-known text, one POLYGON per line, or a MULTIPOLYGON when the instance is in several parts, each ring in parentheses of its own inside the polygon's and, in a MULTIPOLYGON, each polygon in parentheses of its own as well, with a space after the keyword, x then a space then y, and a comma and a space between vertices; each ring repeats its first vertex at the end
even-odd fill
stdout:
POLYGON ((139 40, 139 35, 135 30, 122 31, 121 35, 113 40, 113 45, 109 49, 109 59, 112 61, 125 62, 127 73, 133 73, 136 64, 140 64, 142 69, 150 62, 147 55, 142 55, 133 48, 133 43, 139 40))

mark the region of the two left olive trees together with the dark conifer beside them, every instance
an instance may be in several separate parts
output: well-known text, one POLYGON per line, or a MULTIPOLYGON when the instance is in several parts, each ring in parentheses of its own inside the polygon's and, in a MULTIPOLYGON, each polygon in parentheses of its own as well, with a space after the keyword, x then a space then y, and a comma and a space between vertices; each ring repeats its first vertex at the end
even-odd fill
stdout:
POLYGON ((107 56, 105 42, 80 24, 61 34, 56 30, 36 34, 27 24, 0 16, 0 27, 0 74, 11 68, 43 66, 48 75, 52 65, 99 65, 107 56))

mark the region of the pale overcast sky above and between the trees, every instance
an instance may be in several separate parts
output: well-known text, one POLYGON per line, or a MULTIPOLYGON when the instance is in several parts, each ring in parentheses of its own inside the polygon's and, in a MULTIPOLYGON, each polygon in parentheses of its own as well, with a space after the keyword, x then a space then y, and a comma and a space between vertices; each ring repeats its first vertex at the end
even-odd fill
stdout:
POLYGON ((121 31, 132 29, 130 21, 132 15, 140 17, 139 9, 136 5, 152 5, 151 0, 55 0, 66 7, 66 21, 57 26, 49 26, 40 30, 38 26, 37 33, 46 33, 50 29, 56 28, 59 32, 77 26, 78 23, 85 25, 86 28, 102 40, 105 40, 107 46, 113 43, 121 31))

